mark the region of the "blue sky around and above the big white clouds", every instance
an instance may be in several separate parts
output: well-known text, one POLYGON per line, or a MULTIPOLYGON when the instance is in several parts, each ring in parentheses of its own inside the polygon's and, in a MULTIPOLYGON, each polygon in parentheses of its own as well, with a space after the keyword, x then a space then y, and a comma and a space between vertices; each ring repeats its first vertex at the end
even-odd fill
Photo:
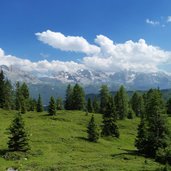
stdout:
MULTIPOLYGON (((170 0, 0 0, 0 48, 7 55, 32 62, 46 59, 79 63, 87 57, 82 51, 54 48, 35 35, 50 30, 83 37, 92 45, 96 45, 97 35, 104 35, 114 44, 144 39, 149 46, 171 52, 170 16, 170 0)), ((156 66, 171 71, 166 60, 156 66)))

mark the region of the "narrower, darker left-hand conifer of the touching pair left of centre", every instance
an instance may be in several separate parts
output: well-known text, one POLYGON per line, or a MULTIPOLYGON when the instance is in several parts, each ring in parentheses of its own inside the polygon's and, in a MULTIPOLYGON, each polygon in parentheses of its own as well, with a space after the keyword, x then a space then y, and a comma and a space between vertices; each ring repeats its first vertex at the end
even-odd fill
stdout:
POLYGON ((73 95, 73 88, 69 84, 67 89, 66 89, 66 97, 65 97, 65 109, 66 110, 72 110, 73 109, 72 95, 73 95))

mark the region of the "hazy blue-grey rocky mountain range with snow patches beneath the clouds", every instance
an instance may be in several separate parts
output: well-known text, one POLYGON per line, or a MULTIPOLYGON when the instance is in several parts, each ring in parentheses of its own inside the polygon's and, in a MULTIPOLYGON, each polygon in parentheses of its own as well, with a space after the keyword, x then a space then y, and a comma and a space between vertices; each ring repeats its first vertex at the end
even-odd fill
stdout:
POLYGON ((17 66, 1 65, 4 75, 13 84, 16 81, 26 82, 33 96, 38 93, 46 96, 56 95, 64 97, 67 85, 79 83, 86 93, 98 93, 102 84, 107 84, 111 91, 116 91, 120 85, 127 90, 147 90, 149 88, 169 89, 171 88, 171 75, 164 72, 142 73, 124 70, 115 73, 90 71, 80 69, 76 72, 54 72, 41 75, 31 71, 24 71, 17 66))

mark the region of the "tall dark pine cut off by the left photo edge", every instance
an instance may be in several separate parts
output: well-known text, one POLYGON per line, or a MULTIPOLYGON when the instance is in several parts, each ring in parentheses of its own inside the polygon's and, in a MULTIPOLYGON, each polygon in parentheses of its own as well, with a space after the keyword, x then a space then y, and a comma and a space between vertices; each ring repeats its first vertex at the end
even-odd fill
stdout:
POLYGON ((5 104, 5 78, 3 70, 0 71, 0 108, 5 104))

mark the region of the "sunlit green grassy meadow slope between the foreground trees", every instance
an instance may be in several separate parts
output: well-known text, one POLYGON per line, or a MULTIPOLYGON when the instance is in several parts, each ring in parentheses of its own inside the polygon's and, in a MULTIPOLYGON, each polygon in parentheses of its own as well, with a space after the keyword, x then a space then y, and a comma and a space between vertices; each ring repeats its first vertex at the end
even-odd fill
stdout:
MULTIPOLYGON (((14 111, 0 110, 0 149, 6 149, 6 128, 14 111)), ((119 121, 120 139, 100 138, 90 143, 85 138, 90 116, 80 111, 58 111, 54 118, 46 113, 30 112, 24 116, 30 133, 34 156, 28 160, 6 161, 0 157, 0 170, 18 166, 20 170, 112 170, 152 171, 159 166, 151 159, 131 154, 134 147, 138 119, 119 121)), ((95 114, 100 125, 101 115, 95 114)))

